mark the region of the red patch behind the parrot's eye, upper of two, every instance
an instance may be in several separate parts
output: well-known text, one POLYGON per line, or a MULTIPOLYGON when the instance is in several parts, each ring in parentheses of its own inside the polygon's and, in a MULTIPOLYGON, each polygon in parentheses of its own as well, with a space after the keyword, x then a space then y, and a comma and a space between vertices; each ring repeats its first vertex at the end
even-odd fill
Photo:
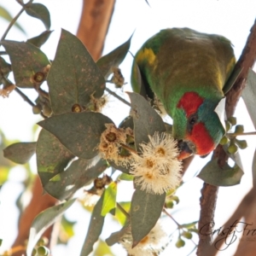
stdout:
POLYGON ((189 117, 190 114, 197 112, 197 109, 201 106, 203 101, 203 98, 196 92, 185 92, 177 103, 177 108, 183 108, 186 116, 189 117))

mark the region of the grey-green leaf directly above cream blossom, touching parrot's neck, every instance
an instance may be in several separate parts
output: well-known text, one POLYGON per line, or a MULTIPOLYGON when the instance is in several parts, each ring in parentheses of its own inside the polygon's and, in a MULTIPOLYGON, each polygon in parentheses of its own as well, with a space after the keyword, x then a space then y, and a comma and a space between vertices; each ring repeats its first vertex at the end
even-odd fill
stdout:
POLYGON ((139 143, 148 142, 148 135, 153 136, 155 131, 166 131, 166 127, 160 115, 151 108, 143 96, 134 92, 128 92, 128 95, 131 98, 135 144, 136 148, 139 148, 139 143))

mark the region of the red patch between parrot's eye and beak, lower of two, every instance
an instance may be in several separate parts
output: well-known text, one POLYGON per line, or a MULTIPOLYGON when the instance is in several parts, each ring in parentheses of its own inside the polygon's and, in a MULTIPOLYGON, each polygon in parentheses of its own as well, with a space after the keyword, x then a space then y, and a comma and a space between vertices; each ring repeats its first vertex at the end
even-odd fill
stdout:
POLYGON ((212 152, 215 145, 203 123, 195 124, 193 130, 186 139, 195 144, 196 154, 205 155, 212 152))

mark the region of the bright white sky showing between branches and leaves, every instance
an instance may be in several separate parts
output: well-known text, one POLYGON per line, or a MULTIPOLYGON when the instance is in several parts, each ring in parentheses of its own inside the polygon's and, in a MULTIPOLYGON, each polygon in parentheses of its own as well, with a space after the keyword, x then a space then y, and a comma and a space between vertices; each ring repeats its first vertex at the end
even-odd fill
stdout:
MULTIPOLYGON (((73 34, 77 31, 82 1, 44 0, 35 1, 34 3, 44 3, 51 14, 51 30, 54 30, 54 32, 50 36, 49 41, 41 49, 49 59, 54 59, 61 27, 69 32, 73 32, 73 34)), ((247 40, 249 30, 253 26, 253 21, 256 18, 256 1, 252 0, 148 0, 148 3, 151 7, 148 7, 148 4, 144 0, 116 1, 103 54, 107 54, 110 50, 119 46, 119 44, 123 44, 130 38, 131 33, 134 31, 135 33, 131 40, 132 54, 135 54, 143 42, 154 35, 154 33, 159 32, 160 29, 188 26, 200 32, 217 33, 229 38, 234 45, 236 58, 239 58, 247 40)), ((9 9, 12 15, 16 15, 20 10, 20 5, 15 0, 0 0, 0 5, 9 9)), ((44 25, 40 20, 33 19, 26 14, 21 15, 19 22, 26 30, 27 38, 37 36, 44 31, 44 25)), ((1 19, 1 35, 7 26, 8 23, 1 19)), ((12 28, 7 39, 22 41, 26 40, 26 36, 15 28, 12 28)), ((125 85, 124 91, 131 90, 131 61, 132 57, 128 54, 124 63, 121 65, 122 73, 128 83, 125 85)), ((110 85, 109 88, 113 89, 113 86, 110 85)), ((36 94, 32 90, 25 90, 25 92, 32 100, 35 100, 36 94)), ((119 94, 127 99, 124 92, 119 92, 119 94)), ((129 108, 123 106, 122 103, 118 103, 117 108, 116 104, 113 98, 111 98, 110 106, 104 110, 104 113, 108 114, 119 125, 121 119, 128 115, 129 108)), ((238 124, 245 126, 245 131, 254 130, 243 102, 239 102, 237 106, 236 118, 238 124)), ((9 96, 9 99, 0 98, 0 127, 9 139, 18 139, 24 142, 36 140, 36 138, 32 137, 31 128, 38 120, 39 117, 32 114, 31 107, 15 92, 9 96)), ((252 187, 251 165, 256 143, 255 137, 247 138, 247 143, 249 147, 241 151, 245 172, 241 178, 241 184, 219 189, 214 218, 216 229, 224 224, 225 220, 236 209, 243 196, 252 187)), ((180 224, 189 223, 199 218, 199 197, 201 195, 202 182, 195 175, 201 171, 201 167, 208 160, 210 160, 210 156, 204 160, 196 158, 184 176, 186 183, 177 191, 180 203, 174 208, 172 215, 180 224)), ((37 172, 35 163, 36 160, 33 157, 31 166, 34 172, 37 172)), ((15 200, 22 189, 20 180, 24 178, 24 175, 23 167, 17 165, 10 172, 9 182, 0 191, 0 238, 3 239, 0 253, 3 249, 9 248, 15 239, 18 214, 15 208, 15 200)), ((121 188, 122 184, 119 187, 118 200, 130 200, 131 193, 127 195, 127 189, 121 188)), ((68 210, 67 217, 79 222, 75 227, 76 236, 70 240, 67 248, 64 246, 55 248, 52 252, 53 256, 79 255, 89 224, 90 214, 80 211, 79 205, 76 205, 68 210)), ((110 223, 110 219, 109 216, 106 219, 102 239, 106 239, 113 231, 119 230, 119 226, 110 223)), ((173 224, 170 218, 164 218, 164 226, 168 234, 171 234, 175 229, 175 224, 173 224)), ((172 253, 172 255, 178 254, 185 256, 192 250, 193 244, 190 241, 187 241, 184 248, 177 249, 174 246, 176 239, 176 236, 174 236, 174 242, 172 241, 171 246, 167 247, 166 251, 161 255, 171 255, 172 253)), ((193 239, 197 242, 196 236, 193 239)), ((218 255, 232 255, 236 250, 236 245, 237 243, 235 242, 229 249, 218 253, 218 255)), ((115 255, 125 255, 125 252, 120 249, 119 245, 113 246, 112 249, 115 255)), ((195 255, 195 253, 191 255, 195 255)))

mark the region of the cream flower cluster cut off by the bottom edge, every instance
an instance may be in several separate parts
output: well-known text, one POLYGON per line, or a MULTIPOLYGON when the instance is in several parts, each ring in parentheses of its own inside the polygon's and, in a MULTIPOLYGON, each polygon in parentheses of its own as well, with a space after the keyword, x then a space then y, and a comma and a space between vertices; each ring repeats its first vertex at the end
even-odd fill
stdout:
POLYGON ((160 253, 166 246, 166 232, 157 223, 148 235, 132 248, 131 230, 127 230, 120 243, 131 256, 153 256, 160 253))

